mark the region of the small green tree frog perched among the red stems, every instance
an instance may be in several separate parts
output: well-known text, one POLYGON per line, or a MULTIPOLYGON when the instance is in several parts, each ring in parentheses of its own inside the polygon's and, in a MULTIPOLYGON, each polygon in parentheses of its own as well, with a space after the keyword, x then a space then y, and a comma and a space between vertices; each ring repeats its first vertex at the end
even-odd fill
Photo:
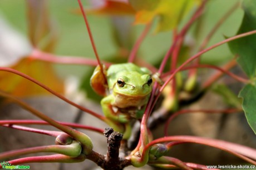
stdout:
MULTIPOLYGON (((130 126, 132 118, 141 119, 152 91, 150 70, 124 63, 111 65, 107 70, 104 66, 103 73, 107 83, 100 66, 93 72, 90 83, 97 94, 105 96, 101 100, 101 106, 107 119, 127 126, 130 126)), ((124 134, 124 138, 125 136, 129 135, 124 134)))

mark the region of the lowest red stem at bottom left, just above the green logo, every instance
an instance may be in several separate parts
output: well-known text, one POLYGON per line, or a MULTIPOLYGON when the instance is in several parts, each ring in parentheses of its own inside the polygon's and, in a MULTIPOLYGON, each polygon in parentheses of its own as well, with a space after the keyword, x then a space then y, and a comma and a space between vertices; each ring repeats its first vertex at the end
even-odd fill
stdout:
MULTIPOLYGON (((63 163, 73 163, 73 162, 82 162, 85 161, 85 155, 81 154, 78 157, 72 158, 63 154, 53 154, 47 156, 34 156, 34 157, 26 157, 14 159, 12 161, 8 161, 12 165, 23 164, 23 163, 33 163, 33 162, 63 162, 63 163)), ((0 164, 0 167, 1 164, 0 164)))

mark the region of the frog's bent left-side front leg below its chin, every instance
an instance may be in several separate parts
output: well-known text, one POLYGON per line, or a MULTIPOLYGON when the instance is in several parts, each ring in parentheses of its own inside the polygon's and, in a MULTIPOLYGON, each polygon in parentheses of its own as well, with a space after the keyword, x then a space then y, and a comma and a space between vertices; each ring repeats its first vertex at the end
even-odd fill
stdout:
POLYGON ((120 112, 115 112, 112 109, 112 104, 115 102, 115 96, 109 95, 101 100, 101 107, 104 115, 112 121, 119 123, 127 123, 130 121, 130 116, 127 114, 122 114, 120 112))

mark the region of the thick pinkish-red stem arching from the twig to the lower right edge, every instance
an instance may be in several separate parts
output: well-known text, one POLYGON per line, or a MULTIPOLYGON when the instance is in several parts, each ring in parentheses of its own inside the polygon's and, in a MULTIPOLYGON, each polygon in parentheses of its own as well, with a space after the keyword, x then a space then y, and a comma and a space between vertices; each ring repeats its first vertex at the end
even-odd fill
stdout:
POLYGON ((256 161, 253 161, 256 160, 256 150, 253 148, 249 148, 231 142, 195 136, 168 136, 158 138, 157 140, 154 140, 150 142, 148 145, 146 145, 144 151, 142 152, 141 159, 145 157, 144 154, 147 154, 147 152, 149 152, 149 149, 151 148, 152 145, 169 141, 198 143, 201 145, 219 148, 220 150, 234 154, 235 156, 242 158, 249 163, 256 164, 256 161))

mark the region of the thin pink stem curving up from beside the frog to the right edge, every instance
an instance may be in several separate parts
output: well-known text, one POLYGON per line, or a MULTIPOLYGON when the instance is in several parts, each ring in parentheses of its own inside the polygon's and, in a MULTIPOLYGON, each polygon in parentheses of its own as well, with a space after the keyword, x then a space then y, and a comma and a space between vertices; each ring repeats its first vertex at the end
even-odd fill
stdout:
POLYGON ((193 61, 194 59, 198 58, 200 55, 206 53, 207 51, 211 50, 211 49, 214 49, 222 44, 225 44, 225 43, 228 43, 232 40, 235 40, 235 39, 238 39, 238 38, 242 38, 242 37, 246 37, 248 35, 252 35, 252 34, 255 34, 256 33, 256 30, 252 30, 250 32, 247 32, 247 33, 243 33, 243 34, 239 34, 239 35, 235 35, 234 37, 230 37, 228 39, 225 39, 219 43, 216 43, 214 45, 212 45, 211 47, 207 48, 207 49, 204 49, 203 51, 200 51, 198 54, 195 54, 194 56, 191 56, 191 58, 189 58, 188 60, 186 60, 183 64, 181 64, 175 71, 174 73, 170 76, 170 78, 165 81, 164 85, 161 87, 160 89, 160 92, 163 91, 164 87, 169 83, 169 81, 171 81, 173 78, 174 78, 174 75, 176 73, 178 73, 186 64, 190 63, 190 61, 193 61))

